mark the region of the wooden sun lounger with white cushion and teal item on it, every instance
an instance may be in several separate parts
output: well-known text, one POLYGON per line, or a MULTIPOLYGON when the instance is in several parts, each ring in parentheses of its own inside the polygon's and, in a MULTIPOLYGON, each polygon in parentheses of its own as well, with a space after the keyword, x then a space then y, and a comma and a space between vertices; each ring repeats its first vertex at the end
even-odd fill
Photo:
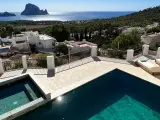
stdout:
POLYGON ((136 64, 152 75, 160 75, 160 66, 157 65, 156 63, 154 64, 151 61, 138 60, 136 61, 136 64))

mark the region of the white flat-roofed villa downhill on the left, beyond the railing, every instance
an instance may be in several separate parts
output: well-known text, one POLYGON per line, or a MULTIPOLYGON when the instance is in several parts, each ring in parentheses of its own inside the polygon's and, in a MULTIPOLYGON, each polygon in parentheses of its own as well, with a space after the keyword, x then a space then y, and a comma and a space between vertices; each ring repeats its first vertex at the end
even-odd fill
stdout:
POLYGON ((12 45, 19 49, 26 49, 29 45, 34 45, 37 49, 51 49, 55 42, 55 38, 39 34, 37 31, 22 32, 12 38, 12 45))

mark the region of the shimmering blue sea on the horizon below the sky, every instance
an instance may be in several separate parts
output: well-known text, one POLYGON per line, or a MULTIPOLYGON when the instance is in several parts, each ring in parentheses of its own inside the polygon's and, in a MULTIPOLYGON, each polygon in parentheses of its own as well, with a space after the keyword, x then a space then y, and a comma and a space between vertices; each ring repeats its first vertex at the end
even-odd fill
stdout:
POLYGON ((134 11, 118 11, 118 12, 50 12, 49 15, 31 15, 24 16, 19 12, 14 12, 16 16, 0 17, 0 21, 15 21, 15 20, 32 20, 32 21, 73 21, 73 20, 91 20, 119 17, 131 14, 134 11))

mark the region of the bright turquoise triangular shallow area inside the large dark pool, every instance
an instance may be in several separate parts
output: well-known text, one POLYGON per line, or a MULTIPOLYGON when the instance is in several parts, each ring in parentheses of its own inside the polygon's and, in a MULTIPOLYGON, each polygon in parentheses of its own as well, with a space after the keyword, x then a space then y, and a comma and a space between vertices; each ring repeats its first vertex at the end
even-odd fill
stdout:
POLYGON ((160 120, 160 114, 126 95, 89 120, 160 120))

